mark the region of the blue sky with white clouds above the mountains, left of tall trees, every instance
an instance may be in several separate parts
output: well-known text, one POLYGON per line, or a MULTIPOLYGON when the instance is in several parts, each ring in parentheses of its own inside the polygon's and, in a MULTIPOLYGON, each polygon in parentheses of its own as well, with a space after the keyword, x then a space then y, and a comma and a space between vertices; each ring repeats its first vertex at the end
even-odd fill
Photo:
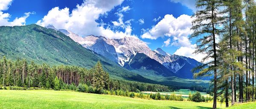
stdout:
MULTIPOLYGON (((6 0, 0 25, 54 25, 80 36, 137 37, 155 50, 195 58, 195 0, 6 0), (184 15, 185 14, 185 15, 184 15), (179 18, 178 18, 179 17, 179 18), (155 19, 155 20, 154 20, 155 19)), ((197 59, 198 60, 198 59, 197 59)))

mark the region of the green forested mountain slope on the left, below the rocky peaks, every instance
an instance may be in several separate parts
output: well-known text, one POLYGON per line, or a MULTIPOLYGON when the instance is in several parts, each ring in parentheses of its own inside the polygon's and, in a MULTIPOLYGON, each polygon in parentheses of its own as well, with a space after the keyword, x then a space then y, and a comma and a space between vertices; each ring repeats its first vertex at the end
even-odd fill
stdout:
POLYGON ((83 48, 60 31, 39 25, 0 27, 0 56, 9 59, 25 58, 37 63, 68 64, 93 67, 101 61, 111 77, 152 82, 132 73, 97 53, 83 48))

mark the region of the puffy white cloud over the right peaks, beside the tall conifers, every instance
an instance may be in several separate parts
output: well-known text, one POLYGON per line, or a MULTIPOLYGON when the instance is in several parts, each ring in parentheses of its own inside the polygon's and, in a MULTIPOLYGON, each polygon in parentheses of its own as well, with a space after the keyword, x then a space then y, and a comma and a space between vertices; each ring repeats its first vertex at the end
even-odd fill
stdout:
MULTIPOLYGON (((156 19, 157 20, 157 19, 156 19)), ((192 20, 191 16, 180 15, 180 17, 173 17, 173 15, 166 14, 157 25, 151 29, 143 29, 142 38, 157 39, 159 37, 169 37, 164 41, 162 47, 176 46, 178 49, 174 54, 193 58, 201 61, 204 54, 193 54, 195 52, 195 44, 192 44, 188 36, 192 34, 192 20)))

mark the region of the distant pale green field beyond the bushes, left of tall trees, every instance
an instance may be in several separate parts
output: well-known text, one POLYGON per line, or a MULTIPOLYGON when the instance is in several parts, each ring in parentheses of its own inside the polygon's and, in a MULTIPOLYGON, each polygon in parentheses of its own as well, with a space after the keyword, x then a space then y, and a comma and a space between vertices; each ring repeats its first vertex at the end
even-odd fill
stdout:
MULTIPOLYGON (((189 96, 189 92, 191 92, 191 94, 194 94, 196 91, 190 91, 189 89, 179 89, 178 92, 160 92, 160 94, 162 95, 171 95, 171 94, 175 94, 175 95, 181 95, 182 97, 188 97, 189 96)), ((156 92, 143 92, 143 93, 156 93, 156 92)), ((200 92, 201 95, 204 95, 204 97, 209 97, 210 95, 207 94, 206 92, 200 92)))

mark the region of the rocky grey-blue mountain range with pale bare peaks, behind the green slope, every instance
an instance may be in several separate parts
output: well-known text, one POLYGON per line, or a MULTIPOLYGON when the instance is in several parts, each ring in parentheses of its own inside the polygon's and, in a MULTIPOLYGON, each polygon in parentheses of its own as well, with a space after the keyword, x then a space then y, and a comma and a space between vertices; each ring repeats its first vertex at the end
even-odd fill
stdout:
POLYGON ((185 56, 171 55, 161 48, 151 50, 148 45, 137 37, 123 37, 122 39, 108 39, 104 36, 89 35, 81 37, 71 31, 49 25, 69 36, 84 48, 92 50, 128 70, 136 70, 140 75, 176 76, 179 78, 193 78, 191 70, 202 64, 185 56))

